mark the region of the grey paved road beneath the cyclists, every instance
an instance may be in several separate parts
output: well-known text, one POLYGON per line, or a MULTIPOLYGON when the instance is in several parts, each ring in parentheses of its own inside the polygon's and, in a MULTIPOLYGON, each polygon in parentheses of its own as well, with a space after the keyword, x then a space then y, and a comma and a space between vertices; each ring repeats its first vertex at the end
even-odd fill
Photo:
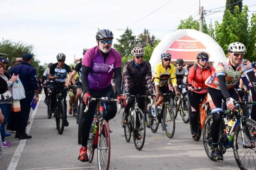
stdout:
MULTIPOLYGON (((12 146, 4 148, 0 169, 98 169, 97 154, 92 163, 77 160, 81 146, 77 142, 78 126, 75 118, 68 116, 69 127, 64 128, 62 135, 58 134, 55 119, 47 118, 47 108, 43 99, 44 95, 40 98, 36 112, 31 110, 32 126, 29 134, 32 135, 32 139, 18 140, 14 138, 14 134, 6 137, 12 146)), ((204 151, 202 139, 198 142, 192 139, 189 125, 184 124, 179 115, 172 139, 169 139, 161 129, 152 133, 147 128, 145 145, 141 151, 135 149, 133 140, 129 143, 125 141, 120 121, 120 114, 110 121, 113 131, 110 169, 238 169, 232 149, 227 150, 224 161, 211 161, 204 151)))

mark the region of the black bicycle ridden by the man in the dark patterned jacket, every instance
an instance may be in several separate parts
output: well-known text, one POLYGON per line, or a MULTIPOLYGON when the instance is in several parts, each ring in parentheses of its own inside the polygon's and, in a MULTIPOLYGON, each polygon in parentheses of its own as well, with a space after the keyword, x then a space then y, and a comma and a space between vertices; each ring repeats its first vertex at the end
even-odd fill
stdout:
POLYGON ((133 132, 133 142, 136 149, 141 150, 143 148, 145 137, 146 137, 146 125, 144 113, 139 108, 139 100, 142 97, 148 97, 146 95, 130 95, 130 97, 135 98, 133 106, 130 108, 129 116, 127 123, 123 124, 124 136, 127 142, 131 139, 131 133, 133 132), (137 135, 141 136, 141 139, 138 139, 137 135))

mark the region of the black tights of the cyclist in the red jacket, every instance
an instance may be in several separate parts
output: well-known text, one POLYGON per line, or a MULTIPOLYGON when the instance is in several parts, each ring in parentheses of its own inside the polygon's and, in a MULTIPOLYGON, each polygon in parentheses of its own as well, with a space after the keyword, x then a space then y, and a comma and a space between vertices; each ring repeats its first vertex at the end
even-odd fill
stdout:
POLYGON ((205 93, 199 94, 199 93, 188 91, 189 103, 191 107, 196 110, 196 111, 192 111, 190 116, 190 123, 192 128, 196 128, 198 126, 199 104, 201 102, 201 99, 203 99, 204 97, 205 97, 205 93))

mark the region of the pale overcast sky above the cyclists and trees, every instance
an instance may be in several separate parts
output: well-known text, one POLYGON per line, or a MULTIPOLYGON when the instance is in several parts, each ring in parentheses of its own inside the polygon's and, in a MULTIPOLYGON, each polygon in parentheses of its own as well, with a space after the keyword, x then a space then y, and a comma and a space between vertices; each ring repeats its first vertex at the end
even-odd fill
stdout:
MULTIPOLYGON (((254 5, 256 0, 244 0, 245 4, 254 5)), ((201 0, 205 10, 225 5, 226 0, 201 0)), ((176 30, 180 20, 190 15, 199 19, 198 9, 199 0, 0 0, 0 39, 33 44, 41 64, 56 62, 59 52, 71 63, 74 55, 82 57, 83 48, 97 45, 97 28, 113 31, 114 38, 124 32, 117 29, 128 26, 138 35, 146 28, 162 39, 176 30)), ((256 11, 256 5, 249 10, 256 11)), ((206 22, 221 22, 222 16, 223 12, 206 16, 206 22)))

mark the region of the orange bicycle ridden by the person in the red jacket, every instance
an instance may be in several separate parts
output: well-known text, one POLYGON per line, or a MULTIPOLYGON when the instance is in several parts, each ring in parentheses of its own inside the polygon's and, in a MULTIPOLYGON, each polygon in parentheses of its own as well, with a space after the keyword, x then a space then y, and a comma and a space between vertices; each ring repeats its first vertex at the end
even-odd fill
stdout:
MULTIPOLYGON (((195 91, 201 91, 201 90, 207 90, 207 88, 197 88, 195 89, 195 91)), ((205 97, 201 99, 200 104, 199 104, 199 116, 198 116, 198 137, 197 138, 193 138, 195 141, 198 141, 201 138, 201 134, 202 134, 202 129, 204 127, 204 122, 205 122, 205 118, 206 116, 211 113, 211 108, 209 105, 209 102, 207 101, 208 96, 207 93, 205 94, 205 97)), ((191 107, 189 106, 189 124, 190 124, 190 130, 191 130, 191 134, 192 134, 192 126, 191 126, 191 107)))

